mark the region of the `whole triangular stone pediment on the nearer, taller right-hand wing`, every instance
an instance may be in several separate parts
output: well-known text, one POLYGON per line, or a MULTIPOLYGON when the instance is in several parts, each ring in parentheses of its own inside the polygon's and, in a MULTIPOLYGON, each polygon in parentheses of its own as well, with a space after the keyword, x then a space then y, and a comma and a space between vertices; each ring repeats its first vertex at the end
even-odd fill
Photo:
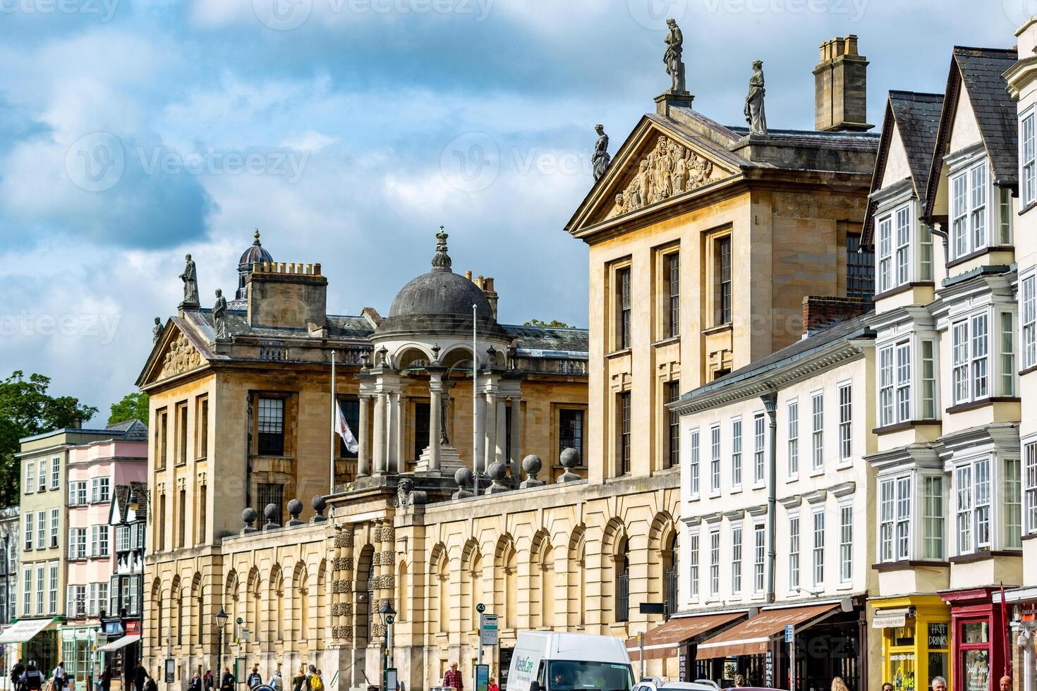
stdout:
POLYGON ((737 173, 728 151, 685 126, 645 117, 612 160, 568 227, 570 233, 672 202, 737 173))

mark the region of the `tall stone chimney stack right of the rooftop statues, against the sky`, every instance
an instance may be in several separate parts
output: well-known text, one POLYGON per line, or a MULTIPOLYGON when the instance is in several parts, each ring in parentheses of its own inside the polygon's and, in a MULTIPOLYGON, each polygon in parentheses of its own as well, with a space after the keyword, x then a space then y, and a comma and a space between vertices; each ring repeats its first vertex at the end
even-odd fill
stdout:
POLYGON ((857 52, 857 36, 836 36, 821 44, 814 67, 814 128, 865 132, 868 117, 868 60, 857 52))

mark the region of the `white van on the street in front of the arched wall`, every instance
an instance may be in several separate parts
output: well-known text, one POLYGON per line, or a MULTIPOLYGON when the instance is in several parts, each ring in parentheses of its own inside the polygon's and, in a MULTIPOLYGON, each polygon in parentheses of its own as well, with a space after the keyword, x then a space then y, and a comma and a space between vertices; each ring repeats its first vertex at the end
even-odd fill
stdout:
POLYGON ((626 644, 612 636, 521 631, 507 691, 630 691, 626 644))

